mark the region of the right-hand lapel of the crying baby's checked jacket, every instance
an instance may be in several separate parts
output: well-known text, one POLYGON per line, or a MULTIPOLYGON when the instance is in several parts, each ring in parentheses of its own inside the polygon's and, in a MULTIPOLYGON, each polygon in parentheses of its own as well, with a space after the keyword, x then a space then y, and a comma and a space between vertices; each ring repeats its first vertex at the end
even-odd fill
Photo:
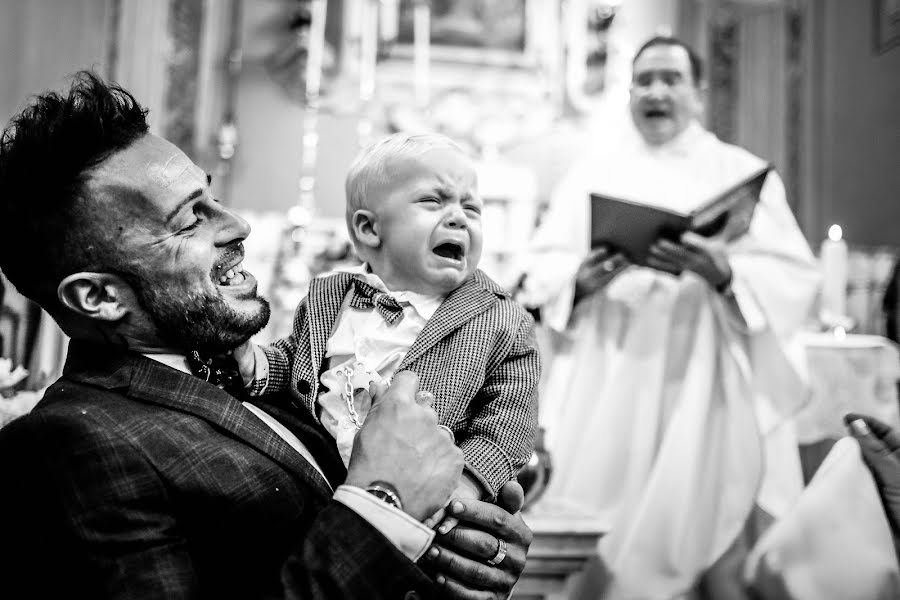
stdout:
POLYGON ((397 370, 407 368, 432 346, 489 309, 497 302, 497 296, 508 294, 487 275, 476 270, 464 284, 450 292, 447 299, 438 307, 397 370))

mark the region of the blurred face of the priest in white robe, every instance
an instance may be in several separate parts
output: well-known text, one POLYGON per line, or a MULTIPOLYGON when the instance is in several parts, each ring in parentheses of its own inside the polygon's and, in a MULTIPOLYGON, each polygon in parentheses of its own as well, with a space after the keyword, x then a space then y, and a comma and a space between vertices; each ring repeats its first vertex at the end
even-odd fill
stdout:
POLYGON ((681 46, 659 45, 634 61, 631 117, 648 144, 674 139, 700 112, 700 90, 681 46))

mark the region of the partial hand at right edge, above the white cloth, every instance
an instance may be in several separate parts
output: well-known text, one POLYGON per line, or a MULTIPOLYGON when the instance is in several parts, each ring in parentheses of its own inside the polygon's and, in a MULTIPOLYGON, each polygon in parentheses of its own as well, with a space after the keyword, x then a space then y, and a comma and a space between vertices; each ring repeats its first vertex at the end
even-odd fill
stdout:
POLYGON ((878 419, 850 413, 844 417, 872 471, 894 535, 900 534, 900 435, 878 419))

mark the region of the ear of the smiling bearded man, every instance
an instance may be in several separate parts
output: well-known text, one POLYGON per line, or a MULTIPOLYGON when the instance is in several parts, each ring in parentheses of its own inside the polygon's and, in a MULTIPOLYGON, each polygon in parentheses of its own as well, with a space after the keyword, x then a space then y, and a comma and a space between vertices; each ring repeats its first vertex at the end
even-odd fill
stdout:
POLYGON ((132 310, 131 287, 111 273, 73 273, 56 288, 60 303, 77 315, 118 321, 132 310))

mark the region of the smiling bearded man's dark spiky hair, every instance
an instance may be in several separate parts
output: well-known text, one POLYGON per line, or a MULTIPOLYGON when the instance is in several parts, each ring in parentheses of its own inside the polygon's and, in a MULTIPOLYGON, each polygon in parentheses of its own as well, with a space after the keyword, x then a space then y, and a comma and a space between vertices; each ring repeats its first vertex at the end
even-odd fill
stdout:
POLYGON ((85 184, 147 133, 146 117, 127 91, 80 71, 68 93, 37 96, 0 136, 0 269, 44 308, 56 305, 64 277, 102 270, 114 256, 85 184))

